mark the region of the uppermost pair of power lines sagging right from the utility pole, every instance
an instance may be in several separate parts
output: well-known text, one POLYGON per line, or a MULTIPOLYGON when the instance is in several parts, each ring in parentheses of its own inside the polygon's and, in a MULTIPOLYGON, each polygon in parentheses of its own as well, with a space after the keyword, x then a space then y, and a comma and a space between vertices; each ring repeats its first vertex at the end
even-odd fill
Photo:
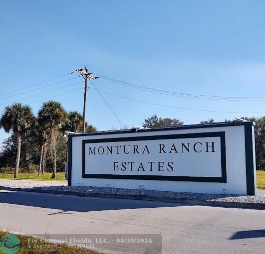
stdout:
POLYGON ((160 89, 154 89, 146 86, 139 86, 131 83, 127 83, 124 81, 108 78, 106 76, 94 73, 101 78, 114 82, 119 85, 132 87, 135 89, 147 91, 147 92, 153 92, 158 94, 165 94, 170 96, 176 96, 176 97, 183 97, 183 98, 192 98, 192 99, 201 99, 201 100, 218 100, 218 101, 244 101, 244 102, 262 102, 265 100, 265 97, 227 97, 227 96, 213 96, 213 95, 199 95, 199 94, 185 94, 185 93, 179 93, 179 92, 173 92, 173 91, 167 91, 167 90, 160 90, 160 89), (151 90, 151 91, 149 91, 151 90))

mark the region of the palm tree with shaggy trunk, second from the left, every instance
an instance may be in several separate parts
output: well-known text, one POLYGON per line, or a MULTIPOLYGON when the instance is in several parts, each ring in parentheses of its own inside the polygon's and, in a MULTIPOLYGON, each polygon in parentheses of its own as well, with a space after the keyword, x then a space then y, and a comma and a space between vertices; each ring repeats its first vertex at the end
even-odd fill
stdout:
POLYGON ((61 128, 65 121, 66 112, 62 105, 56 101, 44 102, 38 112, 38 121, 50 129, 50 143, 52 150, 53 171, 51 178, 56 178, 56 138, 55 129, 61 128))

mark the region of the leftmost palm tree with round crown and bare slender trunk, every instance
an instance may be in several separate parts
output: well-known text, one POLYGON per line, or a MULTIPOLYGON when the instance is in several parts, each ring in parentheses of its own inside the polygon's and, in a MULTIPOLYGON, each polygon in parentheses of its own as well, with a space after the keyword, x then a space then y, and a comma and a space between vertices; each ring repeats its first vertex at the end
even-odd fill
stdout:
POLYGON ((28 105, 22 105, 21 103, 14 103, 11 106, 6 106, 0 119, 0 128, 3 128, 5 132, 9 133, 12 130, 16 134, 16 161, 14 178, 17 178, 20 149, 21 149, 21 137, 34 125, 34 115, 31 108, 28 105))

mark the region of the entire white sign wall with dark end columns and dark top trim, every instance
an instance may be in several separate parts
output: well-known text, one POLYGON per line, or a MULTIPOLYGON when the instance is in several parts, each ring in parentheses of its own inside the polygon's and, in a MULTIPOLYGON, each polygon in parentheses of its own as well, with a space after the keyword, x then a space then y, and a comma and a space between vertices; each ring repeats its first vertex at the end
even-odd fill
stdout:
POLYGON ((256 193, 254 123, 69 136, 68 185, 256 193))

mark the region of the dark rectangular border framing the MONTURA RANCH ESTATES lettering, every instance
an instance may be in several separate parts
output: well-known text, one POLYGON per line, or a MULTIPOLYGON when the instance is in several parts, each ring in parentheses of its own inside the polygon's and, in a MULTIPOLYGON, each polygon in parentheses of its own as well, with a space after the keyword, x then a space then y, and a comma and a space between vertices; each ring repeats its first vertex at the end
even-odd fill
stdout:
POLYGON ((226 170, 226 137, 225 131, 218 132, 201 132, 187 134, 167 134, 167 135, 148 135, 148 136, 130 136, 82 140, 82 178, 101 178, 101 179, 137 179, 137 180, 159 180, 159 181, 188 181, 188 182, 227 182, 226 170), (122 142, 122 141, 139 141, 139 140, 163 140, 163 139, 180 139, 196 137, 220 137, 221 142, 221 177, 207 176, 159 176, 159 175, 118 175, 118 174, 86 174, 85 173, 85 144, 87 143, 105 143, 105 142, 122 142))

